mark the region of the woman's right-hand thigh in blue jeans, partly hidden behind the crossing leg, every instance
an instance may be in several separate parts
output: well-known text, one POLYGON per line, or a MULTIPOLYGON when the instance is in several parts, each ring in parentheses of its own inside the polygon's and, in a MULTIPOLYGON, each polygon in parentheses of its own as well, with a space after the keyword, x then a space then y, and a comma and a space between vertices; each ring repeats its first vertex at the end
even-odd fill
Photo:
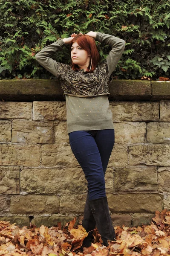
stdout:
POLYGON ((113 146, 115 144, 115 130, 114 129, 98 130, 95 136, 95 142, 98 146, 98 150, 101 156, 103 171, 105 175, 109 158, 112 153, 113 146))

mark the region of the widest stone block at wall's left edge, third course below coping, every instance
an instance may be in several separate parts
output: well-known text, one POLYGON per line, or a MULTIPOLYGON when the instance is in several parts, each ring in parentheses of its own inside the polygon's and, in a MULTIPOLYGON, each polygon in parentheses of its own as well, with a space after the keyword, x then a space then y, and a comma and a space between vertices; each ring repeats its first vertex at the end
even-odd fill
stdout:
POLYGON ((0 144, 1 166, 39 166, 40 145, 0 144))

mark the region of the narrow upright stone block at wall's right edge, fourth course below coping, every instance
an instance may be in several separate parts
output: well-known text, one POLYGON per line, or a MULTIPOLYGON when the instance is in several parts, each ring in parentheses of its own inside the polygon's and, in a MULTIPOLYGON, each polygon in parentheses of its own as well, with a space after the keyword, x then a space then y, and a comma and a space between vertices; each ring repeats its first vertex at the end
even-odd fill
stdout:
POLYGON ((170 166, 158 168, 158 191, 170 192, 170 166))

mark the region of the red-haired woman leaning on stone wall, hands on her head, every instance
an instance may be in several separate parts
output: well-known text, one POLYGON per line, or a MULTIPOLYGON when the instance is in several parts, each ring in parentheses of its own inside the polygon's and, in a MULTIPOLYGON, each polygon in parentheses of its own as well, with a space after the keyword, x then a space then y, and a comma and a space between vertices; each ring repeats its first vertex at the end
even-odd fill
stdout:
POLYGON ((109 108, 109 77, 124 51, 125 41, 112 35, 90 31, 86 35, 73 33, 58 39, 35 55, 36 60, 61 80, 66 99, 66 119, 69 143, 84 171, 88 193, 83 227, 89 232, 83 246, 93 241, 95 225, 102 244, 115 241, 105 192, 104 175, 115 143, 112 112, 109 108), (99 64, 95 41, 112 47, 105 61, 99 64), (69 44, 71 65, 52 59, 56 51, 69 44))

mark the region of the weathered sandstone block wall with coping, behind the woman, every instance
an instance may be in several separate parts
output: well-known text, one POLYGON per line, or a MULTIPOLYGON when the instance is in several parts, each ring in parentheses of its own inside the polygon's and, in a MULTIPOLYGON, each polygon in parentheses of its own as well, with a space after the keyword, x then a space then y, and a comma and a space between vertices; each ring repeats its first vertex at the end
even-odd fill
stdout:
MULTIPOLYGON (((106 172, 113 225, 170 210, 170 84, 113 80, 115 145, 106 172)), ((59 81, 0 81, 0 220, 81 223, 87 183, 66 128, 59 81)))

